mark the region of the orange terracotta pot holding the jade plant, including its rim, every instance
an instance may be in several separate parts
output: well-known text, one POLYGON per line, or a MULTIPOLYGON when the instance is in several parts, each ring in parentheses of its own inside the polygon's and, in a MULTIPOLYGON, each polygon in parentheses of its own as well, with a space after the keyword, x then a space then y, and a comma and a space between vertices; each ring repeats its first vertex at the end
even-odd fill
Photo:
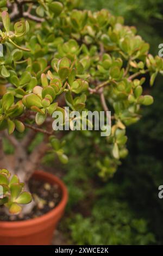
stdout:
POLYGON ((62 181, 51 173, 36 171, 34 178, 58 184, 62 191, 62 199, 56 208, 27 221, 0 221, 0 245, 49 245, 54 229, 64 214, 67 203, 67 190, 62 181))

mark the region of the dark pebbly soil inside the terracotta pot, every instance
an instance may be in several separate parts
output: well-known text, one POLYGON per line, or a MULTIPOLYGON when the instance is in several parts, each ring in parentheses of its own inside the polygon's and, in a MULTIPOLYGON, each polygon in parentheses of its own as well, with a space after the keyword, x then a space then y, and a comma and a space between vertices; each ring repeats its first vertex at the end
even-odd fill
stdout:
POLYGON ((60 203, 62 195, 58 184, 52 185, 48 182, 32 178, 29 180, 29 190, 35 201, 35 206, 30 214, 23 215, 21 213, 19 215, 8 216, 0 211, 0 221, 23 221, 40 217, 54 209, 60 203))

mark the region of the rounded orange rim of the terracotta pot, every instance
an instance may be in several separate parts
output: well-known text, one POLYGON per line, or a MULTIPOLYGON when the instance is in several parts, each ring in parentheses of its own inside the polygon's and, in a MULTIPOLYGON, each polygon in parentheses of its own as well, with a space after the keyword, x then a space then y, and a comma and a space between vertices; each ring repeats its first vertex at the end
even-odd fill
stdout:
MULTIPOLYGON (((48 219, 54 218, 55 215, 60 212, 60 209, 65 208, 65 205, 67 203, 68 199, 68 192, 67 188, 57 176, 55 176, 52 173, 44 172, 43 170, 36 170, 33 174, 33 176, 40 176, 42 179, 43 178, 49 178, 52 181, 55 180, 55 182, 60 186, 61 191, 62 191, 62 198, 60 200, 60 203, 51 211, 48 211, 46 214, 43 214, 40 217, 32 218, 30 220, 23 220, 23 221, 0 221, 0 226, 1 228, 21 228, 21 227, 29 227, 29 225, 34 225, 34 224, 41 224, 42 222, 45 222, 48 219)), ((51 182, 53 183, 53 182, 51 182)))

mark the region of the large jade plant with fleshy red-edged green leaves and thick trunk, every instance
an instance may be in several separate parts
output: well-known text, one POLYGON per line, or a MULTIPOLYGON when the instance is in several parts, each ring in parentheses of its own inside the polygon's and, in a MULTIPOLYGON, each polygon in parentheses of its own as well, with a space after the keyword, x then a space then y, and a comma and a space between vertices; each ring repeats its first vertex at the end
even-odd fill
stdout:
MULTIPOLYGON (((78 132, 97 150, 99 176, 114 175, 128 154, 126 127, 139 121, 142 105, 153 103, 143 84, 153 86, 163 74, 163 59, 149 54, 149 44, 135 27, 124 25, 123 17, 105 9, 80 10, 78 0, 1 0, 0 8, 0 168, 18 175, 28 188, 46 153, 67 163, 68 132, 54 131, 52 123, 53 114, 65 114, 68 106, 70 112, 104 111, 105 118, 111 111, 109 136, 78 132), (38 132, 42 141, 29 152, 38 132), (14 146, 14 161, 4 152, 4 137, 14 146)), ((10 195, 12 179, 1 176, 10 195)), ((12 205, 10 199, 5 204, 12 205)))

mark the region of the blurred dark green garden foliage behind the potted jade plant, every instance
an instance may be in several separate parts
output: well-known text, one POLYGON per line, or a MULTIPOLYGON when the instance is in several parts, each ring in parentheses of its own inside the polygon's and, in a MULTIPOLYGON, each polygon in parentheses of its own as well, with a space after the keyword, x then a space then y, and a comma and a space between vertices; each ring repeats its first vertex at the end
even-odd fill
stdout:
MULTIPOLYGON (((162 0, 83 0, 81 8, 107 8, 114 15, 122 15, 125 24, 135 26, 149 42, 151 53, 158 54, 158 45, 163 42, 162 0)), ((114 178, 105 182, 99 179, 93 164, 95 149, 89 139, 74 133, 70 138, 66 150, 71 157, 64 171, 70 200, 60 224, 68 244, 163 243, 163 200, 158 198, 158 186, 163 184, 161 77, 152 89, 147 77, 145 90, 151 91, 154 104, 144 108, 141 121, 128 128, 129 155, 114 178)))

